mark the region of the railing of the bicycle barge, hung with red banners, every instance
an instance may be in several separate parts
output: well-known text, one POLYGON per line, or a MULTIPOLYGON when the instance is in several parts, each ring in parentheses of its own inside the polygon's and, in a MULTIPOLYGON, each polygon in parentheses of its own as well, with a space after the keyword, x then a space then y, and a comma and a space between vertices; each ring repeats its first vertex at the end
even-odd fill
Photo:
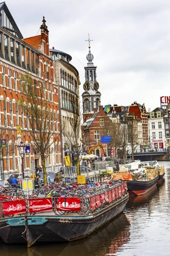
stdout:
POLYGON ((0 201, 0 219, 18 217, 19 215, 38 215, 47 212, 48 216, 79 216, 89 215, 99 210, 109 207, 117 200, 127 195, 127 183, 119 182, 113 184, 108 189, 99 189, 80 197, 51 198, 26 198, 17 200, 0 201))

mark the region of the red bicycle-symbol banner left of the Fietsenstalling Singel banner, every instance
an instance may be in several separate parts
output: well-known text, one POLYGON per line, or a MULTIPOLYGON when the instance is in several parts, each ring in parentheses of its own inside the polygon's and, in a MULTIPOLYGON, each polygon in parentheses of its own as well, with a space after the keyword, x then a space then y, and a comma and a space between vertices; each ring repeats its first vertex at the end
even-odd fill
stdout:
POLYGON ((15 200, 3 203, 3 214, 13 215, 26 212, 26 201, 25 200, 15 200))

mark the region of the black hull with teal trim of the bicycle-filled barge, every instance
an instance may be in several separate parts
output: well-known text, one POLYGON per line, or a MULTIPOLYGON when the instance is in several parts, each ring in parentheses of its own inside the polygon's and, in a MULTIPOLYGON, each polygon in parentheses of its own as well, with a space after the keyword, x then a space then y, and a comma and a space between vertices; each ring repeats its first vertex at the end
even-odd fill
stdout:
POLYGON ((74 241, 82 239, 112 218, 119 215, 127 204, 125 195, 99 212, 85 216, 41 216, 13 217, 0 220, 0 237, 6 243, 24 243, 28 247, 34 241, 74 241), (10 225, 10 226, 8 226, 10 225))

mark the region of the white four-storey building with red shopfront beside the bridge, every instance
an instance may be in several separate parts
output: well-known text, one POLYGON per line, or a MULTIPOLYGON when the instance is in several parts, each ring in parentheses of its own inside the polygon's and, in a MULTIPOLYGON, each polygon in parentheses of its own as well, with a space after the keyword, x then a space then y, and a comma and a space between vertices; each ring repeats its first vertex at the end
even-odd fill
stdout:
MULTIPOLYGON (((150 136, 150 148, 165 148, 165 127, 164 116, 166 115, 164 108, 155 108, 149 113, 148 128, 150 136)), ((169 123, 168 123, 169 127, 169 123)), ((169 131, 169 128, 168 128, 169 131)))

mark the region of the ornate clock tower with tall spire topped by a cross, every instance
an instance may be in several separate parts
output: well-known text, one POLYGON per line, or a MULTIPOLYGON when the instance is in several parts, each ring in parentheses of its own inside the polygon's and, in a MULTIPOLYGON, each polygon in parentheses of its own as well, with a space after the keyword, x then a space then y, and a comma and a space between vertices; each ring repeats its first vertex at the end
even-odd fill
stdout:
POLYGON ((100 106, 100 96, 101 93, 98 91, 99 89, 99 83, 96 80, 96 68, 97 66, 94 66, 93 59, 94 55, 91 53, 91 46, 90 46, 90 37, 88 34, 88 41, 89 46, 89 52, 86 56, 88 63, 85 67, 85 83, 83 84, 83 89, 85 90, 84 93, 82 93, 82 104, 83 104, 83 119, 84 122, 93 116, 94 109, 95 112, 99 111, 100 106))

